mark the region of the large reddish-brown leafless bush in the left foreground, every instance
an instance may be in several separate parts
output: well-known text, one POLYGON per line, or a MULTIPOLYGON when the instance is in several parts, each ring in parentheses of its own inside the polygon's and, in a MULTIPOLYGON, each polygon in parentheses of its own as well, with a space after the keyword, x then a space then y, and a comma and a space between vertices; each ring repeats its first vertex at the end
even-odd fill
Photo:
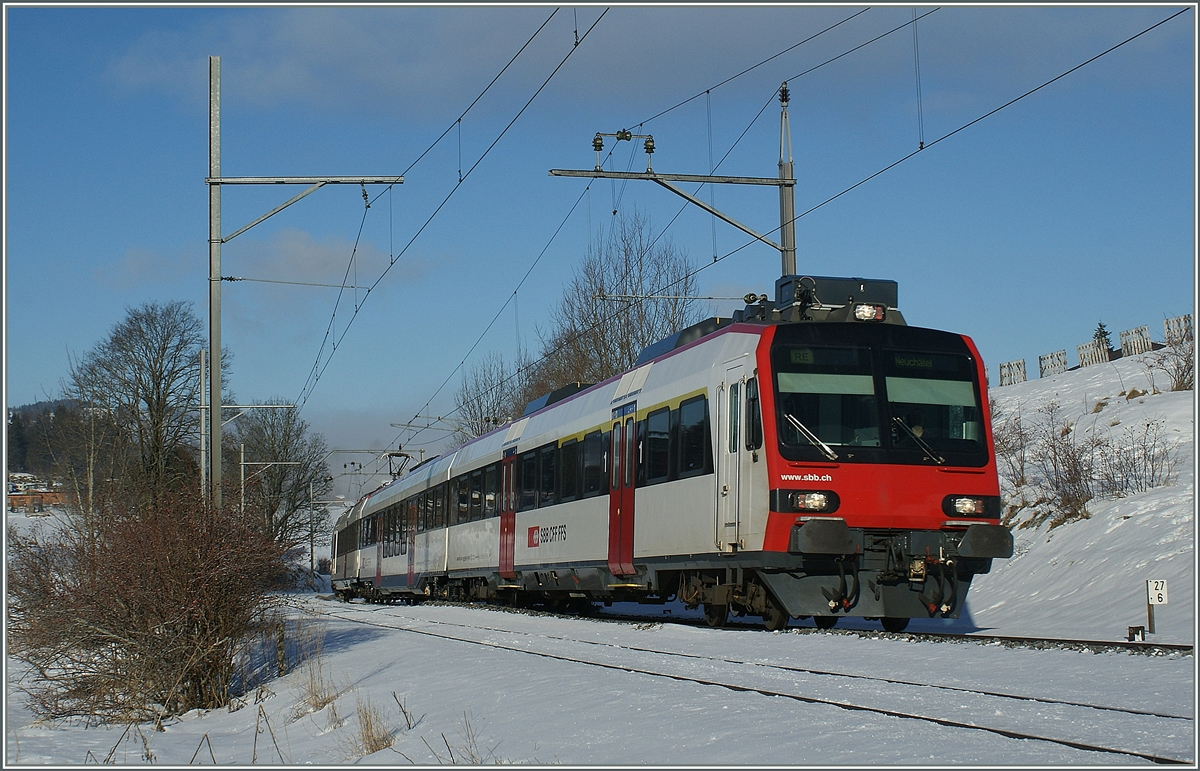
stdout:
MULTIPOLYGON (((116 500, 116 498, 114 498, 116 500)), ((8 533, 10 651, 42 718, 134 721, 223 706, 286 575, 235 513, 172 492, 48 536, 8 533)))

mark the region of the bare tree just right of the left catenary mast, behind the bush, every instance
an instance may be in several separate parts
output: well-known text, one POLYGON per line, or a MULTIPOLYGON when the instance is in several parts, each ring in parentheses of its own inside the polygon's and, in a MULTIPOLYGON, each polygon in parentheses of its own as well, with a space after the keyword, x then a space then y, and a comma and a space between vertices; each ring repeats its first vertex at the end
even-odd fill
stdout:
POLYGON ((234 426, 230 443, 245 444, 246 462, 254 464, 246 466, 251 524, 281 544, 307 543, 314 526, 310 495, 324 498, 332 490, 324 437, 310 434, 295 410, 248 410, 234 426))

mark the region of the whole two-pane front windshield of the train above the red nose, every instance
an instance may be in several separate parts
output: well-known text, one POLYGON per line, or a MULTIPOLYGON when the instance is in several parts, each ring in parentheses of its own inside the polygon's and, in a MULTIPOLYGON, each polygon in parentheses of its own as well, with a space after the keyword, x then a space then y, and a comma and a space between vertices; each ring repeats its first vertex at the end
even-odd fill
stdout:
MULTIPOLYGON (((935 341, 954 347, 953 339, 935 341)), ((964 352, 888 342, 776 343, 780 453, 810 461, 986 464, 976 366, 961 340, 964 352)))

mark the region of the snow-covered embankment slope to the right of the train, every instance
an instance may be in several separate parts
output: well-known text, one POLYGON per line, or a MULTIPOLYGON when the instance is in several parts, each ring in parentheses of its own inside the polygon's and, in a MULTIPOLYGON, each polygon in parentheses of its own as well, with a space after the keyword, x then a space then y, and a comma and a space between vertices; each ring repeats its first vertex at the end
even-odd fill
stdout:
POLYGON ((1120 442, 1129 428, 1162 420, 1174 458, 1169 484, 1122 498, 1093 498, 1090 519, 1013 531, 1015 554, 996 560, 967 599, 970 621, 991 634, 1118 640, 1146 624, 1148 579, 1168 582, 1154 612, 1154 642, 1195 641, 1195 392, 1153 393, 1146 357, 992 388, 1003 412, 1057 400, 1076 431, 1120 442), (1147 392, 1127 399, 1133 389, 1147 392), (1126 394, 1126 395, 1122 395, 1126 394), (1098 412, 1097 402, 1106 402, 1098 412))

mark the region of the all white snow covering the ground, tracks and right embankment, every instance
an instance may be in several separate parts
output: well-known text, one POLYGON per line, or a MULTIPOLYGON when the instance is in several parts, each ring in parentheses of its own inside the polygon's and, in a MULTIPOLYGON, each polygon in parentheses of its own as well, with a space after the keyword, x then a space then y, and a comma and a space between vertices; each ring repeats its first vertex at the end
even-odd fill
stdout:
MULTIPOLYGON (((1165 579, 1170 604, 1158 606, 1150 639, 1194 642, 1195 395, 1118 396, 1133 387, 1151 390, 1138 358, 992 389, 1003 408, 1033 411, 1057 399, 1076 430, 1120 431, 1162 419, 1176 441, 1175 477, 1147 492, 1094 500, 1090 519, 1015 531, 1016 555, 976 580, 962 618, 916 621, 910 629, 1121 640, 1128 626, 1146 621, 1145 580, 1165 579), (1096 413, 1099 399, 1108 406, 1096 413)), ((53 519, 10 514, 8 521, 31 527, 53 519)), ((1192 655, 816 632, 794 621, 793 629, 772 634, 484 606, 346 604, 328 594, 298 594, 295 602, 304 609, 298 622, 324 632, 319 657, 293 651, 292 671, 266 679, 236 711, 191 712, 167 721, 163 731, 38 724, 17 688, 24 670, 10 659, 6 763, 112 757, 139 765, 148 753, 156 765, 186 765, 193 757, 234 765, 438 765, 451 763, 451 753, 458 763, 574 765, 1150 763, 995 733, 1004 730, 1192 764, 1196 758, 1192 655), (311 711, 304 694, 317 671, 340 695, 311 711), (396 698, 415 721, 412 728, 396 698), (366 705, 394 734, 390 748, 371 754, 355 746, 366 705), (994 731, 965 727, 971 724, 994 731)), ((678 605, 605 611, 694 615, 678 605)))

